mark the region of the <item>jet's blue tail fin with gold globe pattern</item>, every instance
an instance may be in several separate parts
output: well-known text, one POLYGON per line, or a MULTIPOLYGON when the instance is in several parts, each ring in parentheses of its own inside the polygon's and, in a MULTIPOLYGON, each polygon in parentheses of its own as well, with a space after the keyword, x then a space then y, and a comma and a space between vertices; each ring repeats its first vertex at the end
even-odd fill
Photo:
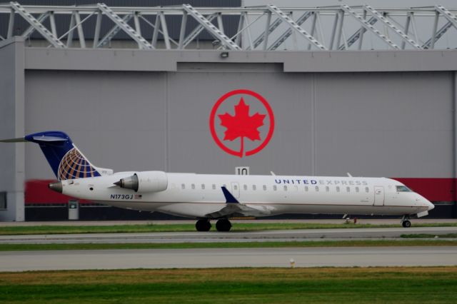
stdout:
POLYGON ((34 133, 25 136, 24 141, 39 144, 59 181, 101 176, 99 168, 92 166, 64 132, 34 133))

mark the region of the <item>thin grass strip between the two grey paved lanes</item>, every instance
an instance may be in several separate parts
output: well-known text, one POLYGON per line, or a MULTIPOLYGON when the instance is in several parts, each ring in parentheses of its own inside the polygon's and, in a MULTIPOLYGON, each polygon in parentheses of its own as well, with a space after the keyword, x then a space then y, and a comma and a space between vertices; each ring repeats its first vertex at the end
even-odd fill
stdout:
MULTIPOLYGON (((104 250, 104 249, 189 249, 189 248, 296 248, 296 247, 386 247, 457 246, 457 240, 311 240, 290 242, 228 243, 74 243, 0 244, 0 251, 24 250, 104 250)), ((456 259, 457 264, 457 259, 456 259)))

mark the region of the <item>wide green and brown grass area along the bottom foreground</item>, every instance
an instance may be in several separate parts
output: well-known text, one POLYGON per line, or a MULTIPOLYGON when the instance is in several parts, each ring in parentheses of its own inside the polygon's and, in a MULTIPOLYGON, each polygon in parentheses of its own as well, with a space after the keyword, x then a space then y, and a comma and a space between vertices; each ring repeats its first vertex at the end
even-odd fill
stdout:
POLYGON ((457 267, 0 273, 1 303, 455 303, 457 267))

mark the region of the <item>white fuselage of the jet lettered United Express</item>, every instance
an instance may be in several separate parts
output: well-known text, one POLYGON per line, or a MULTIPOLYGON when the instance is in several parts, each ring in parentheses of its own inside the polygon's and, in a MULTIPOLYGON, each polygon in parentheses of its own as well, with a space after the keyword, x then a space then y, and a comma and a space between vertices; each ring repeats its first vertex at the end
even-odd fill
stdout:
POLYGON ((243 216, 281 213, 415 215, 433 204, 389 178, 319 176, 237 176, 166 173, 168 186, 157 192, 135 192, 114 186, 134 172, 62 181, 62 193, 75 198, 140 211, 205 218, 226 206, 221 187, 246 206, 243 216))

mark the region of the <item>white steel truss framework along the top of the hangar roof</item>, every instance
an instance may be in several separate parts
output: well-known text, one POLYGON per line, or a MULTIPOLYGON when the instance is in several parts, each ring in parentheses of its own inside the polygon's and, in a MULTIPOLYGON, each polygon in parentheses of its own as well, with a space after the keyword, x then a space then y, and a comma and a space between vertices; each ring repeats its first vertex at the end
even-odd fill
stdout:
POLYGON ((113 39, 138 49, 199 49, 201 34, 230 51, 424 50, 457 47, 457 9, 363 6, 194 7, 33 6, 0 4, 0 39, 41 37, 43 47, 109 48, 113 39), (28 26, 18 28, 17 19, 28 26), (87 26, 94 24, 94 26, 87 26), (173 25, 171 25, 173 24, 173 25), (235 25, 236 24, 236 25, 235 25), (178 29, 170 31, 170 27, 178 29), (176 33, 175 33, 176 32, 176 33), (158 44, 158 40, 164 44, 158 44), (374 41, 374 42, 373 42, 374 41))

